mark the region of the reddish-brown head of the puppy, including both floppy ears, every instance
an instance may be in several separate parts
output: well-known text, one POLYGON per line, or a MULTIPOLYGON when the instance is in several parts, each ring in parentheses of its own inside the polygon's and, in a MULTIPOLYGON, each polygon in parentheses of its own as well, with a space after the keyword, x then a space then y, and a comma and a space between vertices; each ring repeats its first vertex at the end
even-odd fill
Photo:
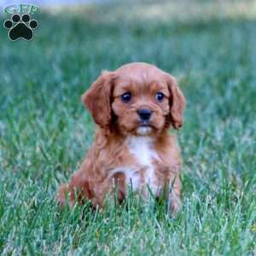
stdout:
POLYGON ((82 99, 97 125, 123 135, 154 135, 183 125, 185 99, 176 79, 146 63, 102 73, 82 99))

